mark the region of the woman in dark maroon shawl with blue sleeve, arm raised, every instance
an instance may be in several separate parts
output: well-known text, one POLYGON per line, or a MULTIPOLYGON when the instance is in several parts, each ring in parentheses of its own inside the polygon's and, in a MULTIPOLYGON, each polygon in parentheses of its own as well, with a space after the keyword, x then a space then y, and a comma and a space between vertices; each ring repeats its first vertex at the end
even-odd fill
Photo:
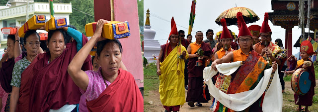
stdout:
MULTIPOLYGON (((68 75, 67 67, 86 42, 87 37, 72 28, 49 31, 49 52, 39 54, 37 61, 21 74, 18 112, 71 112, 76 108, 81 94, 68 75), (65 32, 76 41, 67 43, 65 32)), ((87 55, 83 70, 92 70, 90 61, 87 55)))

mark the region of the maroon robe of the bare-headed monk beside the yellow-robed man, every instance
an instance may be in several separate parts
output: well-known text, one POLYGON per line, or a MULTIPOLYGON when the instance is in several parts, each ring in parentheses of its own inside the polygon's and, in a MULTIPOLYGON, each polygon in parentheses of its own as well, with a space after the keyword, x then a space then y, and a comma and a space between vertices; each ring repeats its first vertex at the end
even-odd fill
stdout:
MULTIPOLYGON (((201 49, 204 51, 203 55, 210 57, 212 54, 211 47, 202 41, 201 49)), ((205 87, 206 100, 203 97, 203 69, 205 68, 205 60, 202 60, 202 66, 195 66, 198 58, 190 58, 188 63, 189 85, 186 102, 200 102, 207 103, 210 98, 208 86, 205 87)))

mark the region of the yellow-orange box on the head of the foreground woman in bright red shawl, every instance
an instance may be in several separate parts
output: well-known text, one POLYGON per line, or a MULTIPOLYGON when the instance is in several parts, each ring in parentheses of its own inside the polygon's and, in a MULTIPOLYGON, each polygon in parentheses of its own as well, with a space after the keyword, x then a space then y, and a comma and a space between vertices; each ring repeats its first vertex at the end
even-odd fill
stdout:
MULTIPOLYGON (((86 36, 92 37, 94 35, 96 28, 96 22, 86 24, 86 36)), ((110 23, 104 24, 101 36, 107 39, 119 39, 129 37, 129 23, 127 21, 111 21, 110 23)))

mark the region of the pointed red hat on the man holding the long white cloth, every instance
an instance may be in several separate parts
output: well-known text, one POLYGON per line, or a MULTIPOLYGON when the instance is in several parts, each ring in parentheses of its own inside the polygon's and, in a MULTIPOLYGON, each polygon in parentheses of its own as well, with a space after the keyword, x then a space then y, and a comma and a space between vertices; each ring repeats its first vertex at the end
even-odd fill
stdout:
POLYGON ((249 32, 249 30, 248 30, 248 28, 246 26, 246 23, 244 22, 244 19, 243 19, 243 16, 242 16, 241 12, 237 13, 237 18, 238 18, 238 27, 239 27, 238 39, 241 36, 250 36, 250 37, 252 37, 252 35, 250 34, 250 32, 249 32))

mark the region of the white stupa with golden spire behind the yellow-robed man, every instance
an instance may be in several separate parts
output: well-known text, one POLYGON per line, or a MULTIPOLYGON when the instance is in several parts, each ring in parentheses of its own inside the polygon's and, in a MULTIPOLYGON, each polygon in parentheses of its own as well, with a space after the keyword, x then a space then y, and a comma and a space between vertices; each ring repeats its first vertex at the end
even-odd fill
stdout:
MULTIPOLYGON (((150 13, 149 9, 146 14, 146 24, 144 26, 144 57, 148 60, 148 63, 155 62, 154 56, 158 57, 160 53, 160 43, 158 40, 154 40, 156 31, 151 29, 150 26, 150 13)), ((156 58, 158 59, 158 58, 156 58)))

